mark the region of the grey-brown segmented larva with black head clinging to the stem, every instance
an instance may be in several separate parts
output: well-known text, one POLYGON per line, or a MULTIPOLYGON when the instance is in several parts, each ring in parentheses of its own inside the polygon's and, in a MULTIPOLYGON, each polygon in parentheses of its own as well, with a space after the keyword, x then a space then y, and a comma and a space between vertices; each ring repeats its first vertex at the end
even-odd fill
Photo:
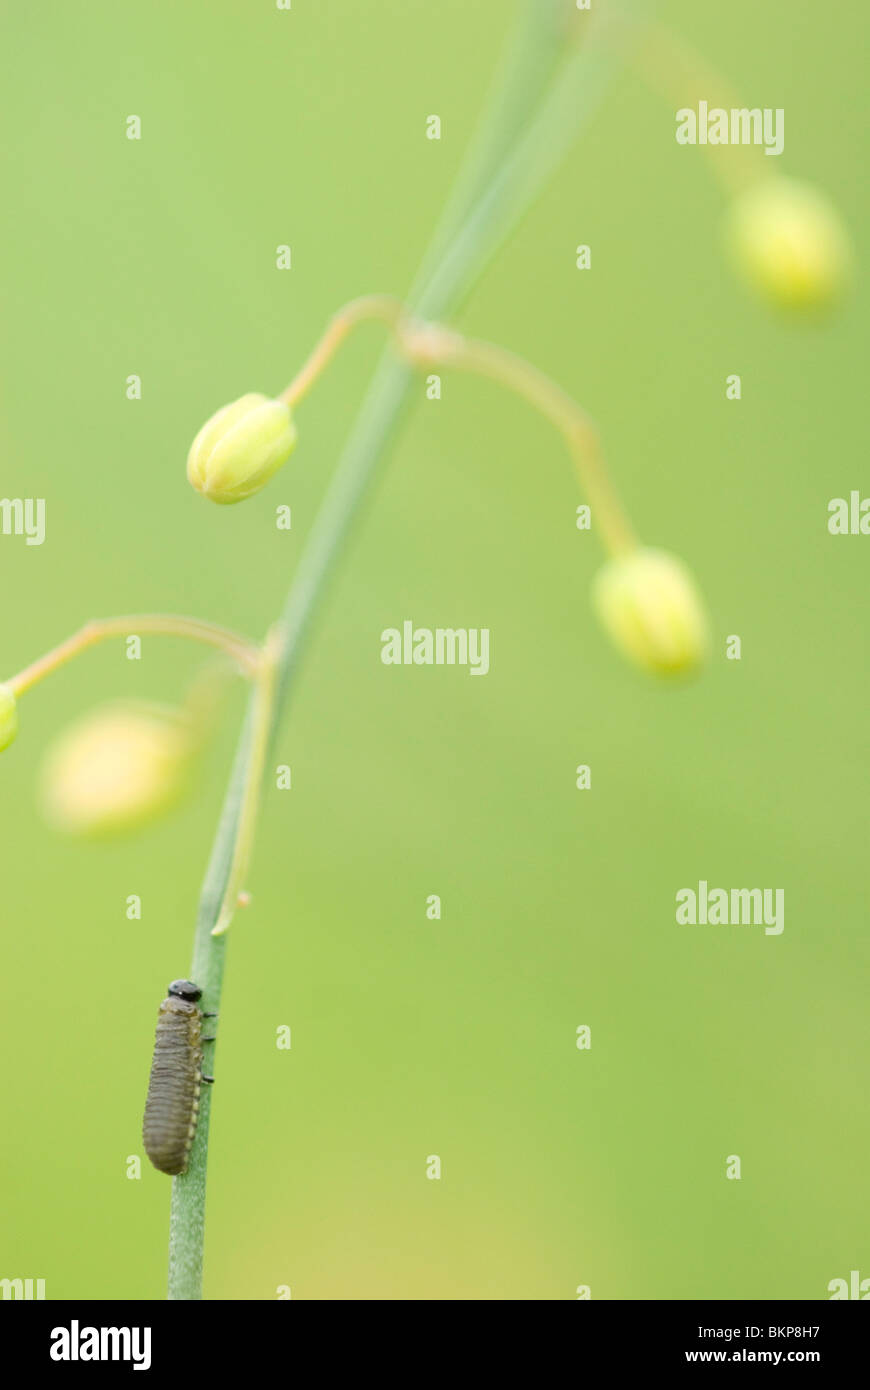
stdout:
POLYGON ((202 990, 174 980, 157 1015, 154 1061, 145 1102, 145 1152, 161 1173, 183 1173, 199 1119, 203 1087, 202 990))

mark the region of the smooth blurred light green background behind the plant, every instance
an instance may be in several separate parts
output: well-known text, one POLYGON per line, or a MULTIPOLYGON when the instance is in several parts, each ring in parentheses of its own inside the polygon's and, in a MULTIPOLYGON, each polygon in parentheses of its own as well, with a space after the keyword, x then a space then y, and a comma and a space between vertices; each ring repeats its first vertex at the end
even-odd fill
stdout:
MULTIPOLYGON (((860 228, 869 17, 663 10, 748 104, 785 108, 778 171, 860 228)), ((0 537, 7 674, 96 614, 264 631, 379 331, 306 402, 256 500, 203 503, 189 441, 284 386, 343 300, 407 289, 511 18, 503 0, 4 4, 0 491, 47 506, 43 546, 0 537)), ((826 325, 775 320, 730 277, 723 206, 674 107, 623 72, 460 320, 588 407, 642 535, 695 569, 714 626, 696 685, 645 682, 595 624, 602 553, 546 424, 468 378, 439 403, 420 388, 284 721, 293 790, 267 791, 232 930, 206 1297, 826 1298, 870 1276, 870 542, 826 528, 866 475, 866 288, 826 325), (382 666, 404 619, 489 627, 491 674, 382 666), (784 887, 784 934, 677 927, 699 878, 784 887)), ((199 659, 160 639, 139 663, 83 657, 26 698, 3 758, 0 1276, 50 1298, 164 1295, 170 1182, 147 1162, 128 1180, 126 1155, 243 692, 196 794, 111 847, 44 827, 40 753, 100 699, 181 698, 199 659)))

